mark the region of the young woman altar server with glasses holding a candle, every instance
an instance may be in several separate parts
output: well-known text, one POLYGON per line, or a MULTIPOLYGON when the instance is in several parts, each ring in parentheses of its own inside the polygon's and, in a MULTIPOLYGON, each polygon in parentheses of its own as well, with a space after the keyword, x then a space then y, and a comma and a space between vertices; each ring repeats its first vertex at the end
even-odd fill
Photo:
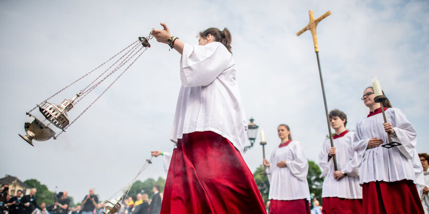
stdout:
POLYGON ((391 107, 389 100, 383 102, 387 119, 384 123, 380 103, 374 98, 374 89, 366 88, 362 100, 369 108, 369 114, 356 124, 353 140, 353 149, 363 157, 360 173, 363 213, 423 214, 419 193, 413 183, 422 183, 420 175, 423 171, 415 163, 418 158, 416 130, 401 110, 391 107), (382 147, 389 143, 387 134, 402 145, 382 147))

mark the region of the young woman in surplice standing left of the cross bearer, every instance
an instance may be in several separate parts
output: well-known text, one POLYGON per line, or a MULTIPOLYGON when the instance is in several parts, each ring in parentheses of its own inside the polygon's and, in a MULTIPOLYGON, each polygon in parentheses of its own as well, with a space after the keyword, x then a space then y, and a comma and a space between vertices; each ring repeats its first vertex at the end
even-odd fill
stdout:
POLYGON ((270 182, 270 214, 310 214, 308 161, 299 141, 292 141, 288 125, 277 127, 281 143, 264 159, 270 182))

